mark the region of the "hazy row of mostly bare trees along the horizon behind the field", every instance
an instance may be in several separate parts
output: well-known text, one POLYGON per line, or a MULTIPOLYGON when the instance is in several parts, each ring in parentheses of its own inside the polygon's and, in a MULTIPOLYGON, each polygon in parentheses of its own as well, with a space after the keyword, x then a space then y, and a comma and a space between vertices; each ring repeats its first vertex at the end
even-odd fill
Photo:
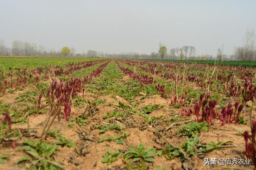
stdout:
MULTIPOLYGON (((35 43, 28 43, 15 40, 12 42, 12 47, 6 47, 4 40, 0 39, 0 55, 24 55, 24 56, 68 56, 68 57, 126 57, 126 58, 152 58, 152 59, 225 59, 223 50, 218 48, 216 56, 202 55, 196 56, 196 47, 192 45, 184 45, 182 47, 171 48, 169 53, 166 46, 159 44, 158 53, 152 52, 148 54, 139 53, 121 53, 121 54, 103 54, 94 50, 88 50, 86 53, 78 54, 73 47, 63 47, 60 51, 54 49, 46 50, 43 45, 36 45, 35 43)), ((244 43, 241 46, 234 47, 234 60, 256 61, 256 34, 253 29, 247 30, 244 36, 244 43)))

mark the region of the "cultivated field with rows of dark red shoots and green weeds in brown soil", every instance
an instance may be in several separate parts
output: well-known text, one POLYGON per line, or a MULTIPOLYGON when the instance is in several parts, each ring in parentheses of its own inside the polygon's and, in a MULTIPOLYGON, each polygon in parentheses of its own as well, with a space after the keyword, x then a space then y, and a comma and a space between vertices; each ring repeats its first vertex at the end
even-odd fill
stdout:
POLYGON ((228 64, 0 57, 0 169, 253 169, 256 69, 228 64))

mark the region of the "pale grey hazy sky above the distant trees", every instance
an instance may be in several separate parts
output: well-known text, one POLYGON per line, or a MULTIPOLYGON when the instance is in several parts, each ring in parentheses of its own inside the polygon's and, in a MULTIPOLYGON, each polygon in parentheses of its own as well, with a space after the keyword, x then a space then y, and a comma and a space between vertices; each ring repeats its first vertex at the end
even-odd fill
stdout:
POLYGON ((158 43, 224 54, 256 30, 256 0, 0 0, 0 38, 76 52, 148 53, 158 43))

